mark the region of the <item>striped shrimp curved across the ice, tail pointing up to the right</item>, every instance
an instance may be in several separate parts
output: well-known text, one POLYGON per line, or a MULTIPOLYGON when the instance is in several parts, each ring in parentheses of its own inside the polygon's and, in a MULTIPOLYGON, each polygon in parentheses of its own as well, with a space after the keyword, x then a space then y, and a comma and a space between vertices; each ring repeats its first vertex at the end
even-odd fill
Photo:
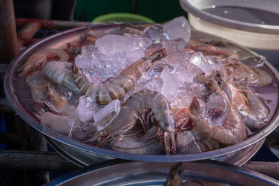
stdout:
POLYGON ((135 81, 142 76, 142 73, 151 68, 155 61, 163 59, 166 55, 165 49, 160 49, 128 66, 119 75, 104 84, 89 82, 77 65, 74 65, 75 83, 82 93, 89 95, 97 104, 107 104, 112 100, 123 98, 134 87, 135 81))

